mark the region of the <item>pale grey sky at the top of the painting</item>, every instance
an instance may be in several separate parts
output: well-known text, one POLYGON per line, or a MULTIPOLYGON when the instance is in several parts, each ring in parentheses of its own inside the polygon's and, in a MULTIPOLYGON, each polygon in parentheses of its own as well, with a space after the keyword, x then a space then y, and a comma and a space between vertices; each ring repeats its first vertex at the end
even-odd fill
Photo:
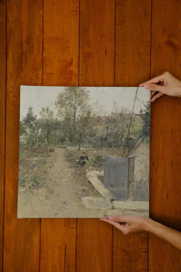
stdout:
MULTIPOLYGON (((54 117, 56 117, 55 101, 64 88, 22 85, 20 88, 20 120, 26 116, 30 106, 37 118, 40 117, 41 108, 48 106, 50 110, 53 110, 54 117)), ((92 105, 93 111, 97 113, 96 104, 98 104, 99 114, 104 115, 105 113, 112 113, 113 107, 114 111, 117 108, 117 112, 121 112, 122 107, 123 112, 125 109, 132 111, 137 87, 86 87, 86 89, 89 91, 89 103, 92 105)), ((150 101, 150 91, 144 87, 139 87, 137 97, 134 107, 135 113, 145 109, 143 104, 150 101)))

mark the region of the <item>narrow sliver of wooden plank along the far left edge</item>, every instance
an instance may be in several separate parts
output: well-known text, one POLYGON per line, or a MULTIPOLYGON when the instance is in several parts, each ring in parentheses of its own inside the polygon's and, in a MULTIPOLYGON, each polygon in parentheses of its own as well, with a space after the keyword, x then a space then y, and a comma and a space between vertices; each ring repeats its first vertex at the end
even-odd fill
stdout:
POLYGON ((3 264, 5 103, 6 103, 6 1, 0 3, 0 271, 3 264))

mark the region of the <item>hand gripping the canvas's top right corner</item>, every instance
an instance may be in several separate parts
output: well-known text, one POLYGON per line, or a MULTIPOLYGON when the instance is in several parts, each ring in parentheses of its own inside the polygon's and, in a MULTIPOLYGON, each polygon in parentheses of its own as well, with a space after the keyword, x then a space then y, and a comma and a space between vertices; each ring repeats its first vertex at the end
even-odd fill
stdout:
POLYGON ((169 72, 164 72, 162 75, 156 76, 138 86, 145 87, 151 91, 151 102, 164 94, 181 97, 181 81, 169 72))

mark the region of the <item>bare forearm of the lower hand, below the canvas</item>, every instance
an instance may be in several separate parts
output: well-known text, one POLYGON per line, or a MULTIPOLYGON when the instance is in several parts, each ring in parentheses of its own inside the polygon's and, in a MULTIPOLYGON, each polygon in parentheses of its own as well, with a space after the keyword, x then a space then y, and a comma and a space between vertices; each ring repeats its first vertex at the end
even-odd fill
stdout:
POLYGON ((166 227, 150 218, 147 223, 147 231, 166 240, 168 243, 181 250, 181 233, 179 231, 166 227))

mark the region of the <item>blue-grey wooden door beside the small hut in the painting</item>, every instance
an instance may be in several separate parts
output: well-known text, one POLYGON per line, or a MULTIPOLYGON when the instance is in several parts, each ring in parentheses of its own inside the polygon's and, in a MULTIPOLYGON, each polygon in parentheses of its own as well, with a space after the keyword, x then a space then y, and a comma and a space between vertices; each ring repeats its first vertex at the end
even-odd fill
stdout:
POLYGON ((104 186, 114 200, 127 200, 128 197, 128 159, 105 156, 104 186))

